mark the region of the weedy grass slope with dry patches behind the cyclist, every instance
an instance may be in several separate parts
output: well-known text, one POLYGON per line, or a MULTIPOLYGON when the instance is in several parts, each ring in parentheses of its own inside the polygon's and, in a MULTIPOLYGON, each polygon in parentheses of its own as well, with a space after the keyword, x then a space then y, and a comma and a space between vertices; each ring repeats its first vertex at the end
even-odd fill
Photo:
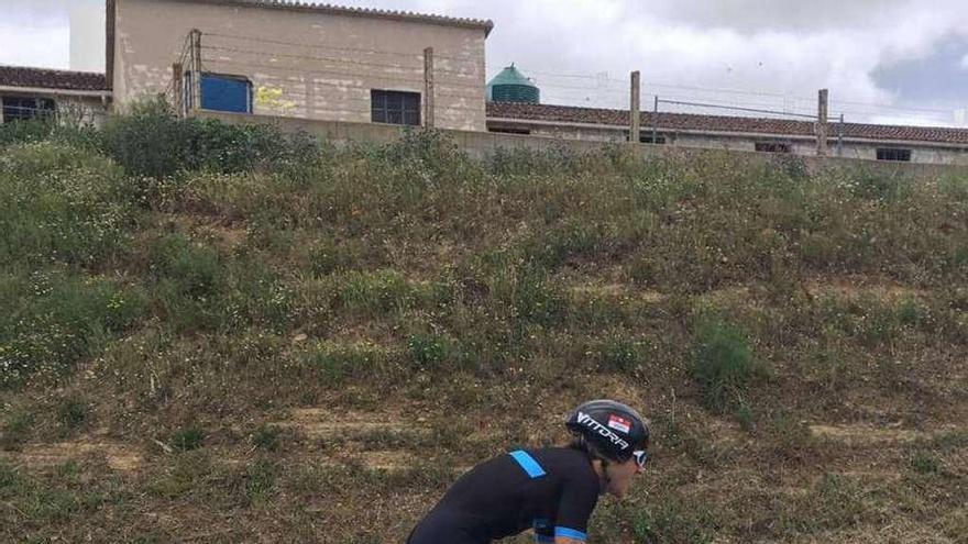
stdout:
POLYGON ((654 462, 595 542, 968 542, 964 179, 0 154, 0 540, 399 542, 608 396, 654 462))

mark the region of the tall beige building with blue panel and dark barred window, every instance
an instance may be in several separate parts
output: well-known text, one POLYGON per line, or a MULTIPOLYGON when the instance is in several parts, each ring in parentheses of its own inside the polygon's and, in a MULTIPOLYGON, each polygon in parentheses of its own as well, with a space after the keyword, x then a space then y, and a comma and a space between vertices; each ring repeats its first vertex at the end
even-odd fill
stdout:
POLYGON ((485 130, 491 21, 276 0, 108 0, 107 23, 119 109, 174 99, 177 87, 201 109, 418 125, 431 88, 435 126, 485 130))

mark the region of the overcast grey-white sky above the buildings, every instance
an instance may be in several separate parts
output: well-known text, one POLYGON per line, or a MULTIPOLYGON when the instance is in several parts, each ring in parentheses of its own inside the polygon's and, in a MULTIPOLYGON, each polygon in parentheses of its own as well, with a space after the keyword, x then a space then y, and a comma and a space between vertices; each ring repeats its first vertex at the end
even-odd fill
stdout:
MULTIPOLYGON (((964 0, 343 0, 491 19, 488 78, 515 63, 542 102, 627 107, 628 73, 661 100, 816 112, 848 121, 965 124, 964 0)), ((0 64, 68 68, 69 5, 0 0, 0 64)), ((103 24, 99 22, 85 24, 103 24)), ((97 40, 89 40, 97 42, 97 40)), ((84 58, 103 63, 101 43, 84 58)), ((642 107, 651 108, 651 96, 642 107)), ((660 103, 663 111, 700 111, 660 103)), ((730 114, 728 110, 703 109, 730 114)))

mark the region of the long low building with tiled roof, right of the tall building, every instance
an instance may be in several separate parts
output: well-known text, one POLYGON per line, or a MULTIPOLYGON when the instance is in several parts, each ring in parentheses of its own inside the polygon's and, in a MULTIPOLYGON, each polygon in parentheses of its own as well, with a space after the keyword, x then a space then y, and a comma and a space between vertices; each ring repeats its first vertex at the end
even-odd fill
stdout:
MULTIPOLYGON (((810 121, 642 112, 641 143, 816 155, 810 121)), ((487 130, 595 142, 627 142, 628 110, 488 102, 487 130)), ((871 160, 968 165, 968 130, 829 123, 827 155, 871 160)))

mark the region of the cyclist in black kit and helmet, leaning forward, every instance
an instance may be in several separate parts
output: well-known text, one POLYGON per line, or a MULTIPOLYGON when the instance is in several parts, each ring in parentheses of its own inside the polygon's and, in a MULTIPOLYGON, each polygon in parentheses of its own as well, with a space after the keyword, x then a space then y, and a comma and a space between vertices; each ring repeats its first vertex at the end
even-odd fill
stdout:
POLYGON ((649 458, 649 428, 614 400, 578 407, 566 447, 519 449, 461 476, 424 518, 408 544, 486 544, 534 529, 536 542, 586 541, 598 496, 622 497, 649 458))

